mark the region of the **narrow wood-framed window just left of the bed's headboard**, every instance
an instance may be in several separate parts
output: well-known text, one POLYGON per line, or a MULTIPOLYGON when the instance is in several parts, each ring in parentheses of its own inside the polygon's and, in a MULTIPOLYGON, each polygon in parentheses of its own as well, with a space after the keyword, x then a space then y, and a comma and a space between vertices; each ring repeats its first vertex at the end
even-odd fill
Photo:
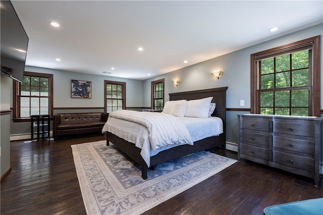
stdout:
POLYGON ((164 78, 151 82, 151 108, 154 110, 163 110, 164 82, 164 78))

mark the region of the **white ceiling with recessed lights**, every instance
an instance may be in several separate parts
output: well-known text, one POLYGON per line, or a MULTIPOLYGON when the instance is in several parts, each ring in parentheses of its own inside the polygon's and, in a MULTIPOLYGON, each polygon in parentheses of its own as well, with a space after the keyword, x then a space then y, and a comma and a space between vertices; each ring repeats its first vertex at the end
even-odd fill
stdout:
POLYGON ((12 4, 29 37, 26 65, 96 75, 106 71, 112 72, 109 76, 138 80, 323 22, 323 1, 12 4), (50 26, 50 21, 60 27, 50 26), (268 31, 276 26, 278 31, 268 31), (144 50, 138 51, 139 46, 144 50))

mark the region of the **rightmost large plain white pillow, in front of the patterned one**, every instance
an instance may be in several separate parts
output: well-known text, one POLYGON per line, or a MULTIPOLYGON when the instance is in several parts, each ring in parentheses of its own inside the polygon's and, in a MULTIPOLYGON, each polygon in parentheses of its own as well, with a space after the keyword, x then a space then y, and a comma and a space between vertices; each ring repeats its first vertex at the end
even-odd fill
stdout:
POLYGON ((207 118, 213 97, 187 101, 185 117, 207 118))

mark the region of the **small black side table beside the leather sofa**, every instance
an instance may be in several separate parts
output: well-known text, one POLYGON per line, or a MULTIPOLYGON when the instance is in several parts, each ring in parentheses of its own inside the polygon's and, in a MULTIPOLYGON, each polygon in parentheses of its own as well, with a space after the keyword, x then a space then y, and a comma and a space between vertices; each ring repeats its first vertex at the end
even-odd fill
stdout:
POLYGON ((34 139, 34 134, 37 134, 37 140, 39 141, 39 135, 42 139, 44 134, 47 134, 50 139, 50 115, 31 115, 31 140, 34 139), (34 131, 34 129, 37 129, 34 131))

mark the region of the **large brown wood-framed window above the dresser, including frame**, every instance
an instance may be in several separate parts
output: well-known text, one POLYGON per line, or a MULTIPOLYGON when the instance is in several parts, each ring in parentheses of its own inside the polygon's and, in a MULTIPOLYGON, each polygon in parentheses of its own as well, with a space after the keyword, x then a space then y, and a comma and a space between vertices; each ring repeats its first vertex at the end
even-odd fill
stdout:
POLYGON ((319 36, 251 55, 251 113, 320 116, 319 36))

